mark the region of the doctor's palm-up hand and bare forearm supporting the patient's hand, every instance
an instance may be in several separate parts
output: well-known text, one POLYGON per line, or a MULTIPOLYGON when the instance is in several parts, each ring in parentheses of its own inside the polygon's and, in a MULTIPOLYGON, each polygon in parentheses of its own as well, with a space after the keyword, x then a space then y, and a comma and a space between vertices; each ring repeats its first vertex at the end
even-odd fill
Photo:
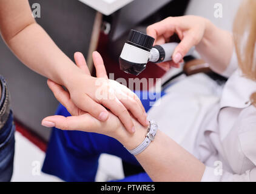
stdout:
MULTIPOLYGON (((78 67, 89 73, 84 68, 87 65, 81 53, 75 53, 75 61, 78 67)), ((99 53, 93 53, 93 61, 95 62, 97 75, 106 76, 103 62, 99 62, 102 61, 99 53)), ((120 119, 112 113, 110 113, 106 122, 100 122, 88 113, 77 109, 73 102, 70 101, 69 93, 63 90, 61 85, 50 80, 48 85, 55 97, 62 100, 61 103, 67 110, 73 112, 73 115, 76 116, 67 118, 64 116, 49 116, 42 123, 54 122, 58 129, 81 130, 108 135, 120 141, 129 150, 134 149, 144 140, 148 127, 144 127, 136 119, 133 119, 136 131, 130 134, 121 124, 120 119)), ((136 155, 136 159, 138 159, 153 181, 200 181, 204 172, 203 163, 161 131, 157 132, 155 140, 150 143, 150 146, 144 152, 136 155), (152 155, 152 153, 154 154, 152 155), (189 162, 189 166, 187 162, 189 162), (152 166, 155 168, 152 168, 152 166)))

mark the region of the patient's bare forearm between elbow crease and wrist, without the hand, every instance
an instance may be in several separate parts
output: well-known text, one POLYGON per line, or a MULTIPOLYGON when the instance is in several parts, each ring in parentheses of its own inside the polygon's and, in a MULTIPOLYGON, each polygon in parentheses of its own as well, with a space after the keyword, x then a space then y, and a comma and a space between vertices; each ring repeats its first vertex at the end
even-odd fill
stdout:
POLYGON ((27 67, 58 84, 63 85, 65 79, 81 72, 36 22, 7 40, 7 44, 27 67))

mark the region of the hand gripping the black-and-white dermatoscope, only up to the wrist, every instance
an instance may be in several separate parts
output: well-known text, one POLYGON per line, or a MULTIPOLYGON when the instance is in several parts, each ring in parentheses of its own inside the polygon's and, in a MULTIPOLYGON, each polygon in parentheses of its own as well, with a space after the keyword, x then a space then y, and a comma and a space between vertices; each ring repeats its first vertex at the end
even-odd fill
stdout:
POLYGON ((162 62, 159 64, 160 67, 165 70, 170 67, 179 67, 186 53, 203 39, 206 24, 207 19, 199 16, 181 16, 169 17, 149 25, 147 35, 155 38, 154 44, 167 43, 174 34, 177 34, 181 40, 173 52, 172 61, 162 62))

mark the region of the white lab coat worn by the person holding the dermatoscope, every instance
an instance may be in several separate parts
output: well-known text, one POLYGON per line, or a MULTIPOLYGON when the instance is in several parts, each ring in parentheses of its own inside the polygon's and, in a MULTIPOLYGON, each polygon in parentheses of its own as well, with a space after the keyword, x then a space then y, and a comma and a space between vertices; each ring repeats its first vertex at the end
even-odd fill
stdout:
POLYGON ((190 76, 149 111, 160 130, 206 165, 201 181, 256 181, 256 82, 237 67, 234 54, 224 87, 204 74, 190 76))

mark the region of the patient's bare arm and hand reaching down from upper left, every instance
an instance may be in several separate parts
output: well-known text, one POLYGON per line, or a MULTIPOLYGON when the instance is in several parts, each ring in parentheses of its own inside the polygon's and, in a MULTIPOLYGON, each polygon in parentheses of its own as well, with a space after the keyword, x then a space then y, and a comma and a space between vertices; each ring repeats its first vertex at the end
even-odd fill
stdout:
MULTIPOLYGON (((141 124, 148 124, 140 99, 118 82, 106 78, 99 80, 81 71, 36 23, 27 0, 0 0, 0 32, 21 62, 42 76, 64 85, 79 109, 100 121, 107 120, 109 109, 130 133, 135 130, 130 113, 141 124), (107 97, 99 99, 96 93, 102 85, 107 97)), ((47 127, 51 125, 49 123, 47 127)))

